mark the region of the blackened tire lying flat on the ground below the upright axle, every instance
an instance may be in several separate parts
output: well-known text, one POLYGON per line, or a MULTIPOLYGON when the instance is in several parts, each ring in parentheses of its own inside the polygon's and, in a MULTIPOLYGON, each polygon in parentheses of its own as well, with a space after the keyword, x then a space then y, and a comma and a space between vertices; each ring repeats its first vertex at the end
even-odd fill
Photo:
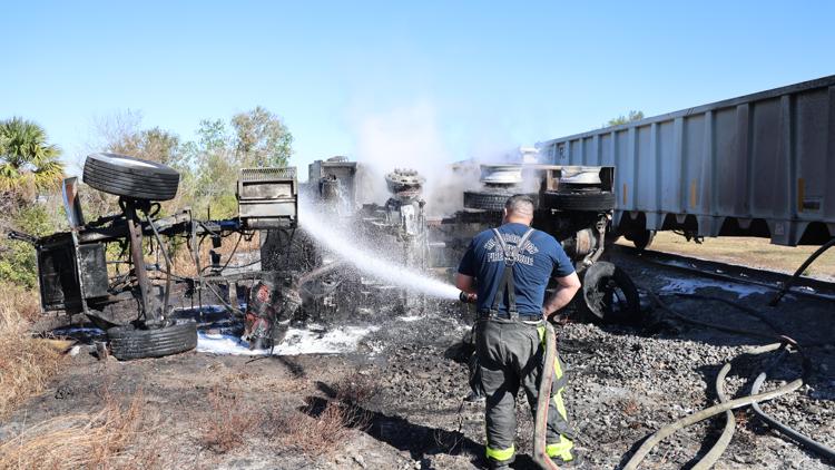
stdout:
POLYGON ((161 358, 190 351, 197 346, 197 324, 178 323, 156 330, 116 326, 107 331, 110 353, 119 361, 161 358))

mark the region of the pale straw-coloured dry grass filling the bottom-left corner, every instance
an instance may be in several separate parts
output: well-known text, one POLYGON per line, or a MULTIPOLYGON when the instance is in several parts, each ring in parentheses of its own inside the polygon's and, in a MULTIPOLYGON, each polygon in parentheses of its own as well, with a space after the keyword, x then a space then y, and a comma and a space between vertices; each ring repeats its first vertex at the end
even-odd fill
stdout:
POLYGON ((127 407, 106 398, 95 414, 59 417, 0 442, 0 469, 155 468, 155 452, 128 452, 143 425, 143 394, 127 407))

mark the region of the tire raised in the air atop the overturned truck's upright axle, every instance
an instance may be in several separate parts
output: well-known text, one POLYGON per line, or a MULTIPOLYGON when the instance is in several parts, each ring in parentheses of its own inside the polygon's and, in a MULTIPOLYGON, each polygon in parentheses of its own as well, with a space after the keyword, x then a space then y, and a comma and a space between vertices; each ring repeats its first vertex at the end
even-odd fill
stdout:
POLYGON ((168 200, 177 195, 179 173, 156 161, 118 154, 92 154, 85 161, 84 182, 117 196, 168 200))

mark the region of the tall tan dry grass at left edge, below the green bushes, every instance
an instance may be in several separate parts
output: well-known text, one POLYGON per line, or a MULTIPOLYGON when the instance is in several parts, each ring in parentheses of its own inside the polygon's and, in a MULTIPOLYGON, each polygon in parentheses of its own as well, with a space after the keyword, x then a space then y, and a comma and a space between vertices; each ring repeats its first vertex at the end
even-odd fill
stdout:
POLYGON ((60 354, 29 334, 39 315, 33 292, 0 284, 0 417, 43 390, 60 354))

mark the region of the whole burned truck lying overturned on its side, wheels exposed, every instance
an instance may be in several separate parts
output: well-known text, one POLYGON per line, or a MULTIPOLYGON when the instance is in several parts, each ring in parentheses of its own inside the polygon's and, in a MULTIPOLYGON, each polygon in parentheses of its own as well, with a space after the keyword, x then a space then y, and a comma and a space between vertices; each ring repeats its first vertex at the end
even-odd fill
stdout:
POLYGON ((85 161, 84 182, 118 196, 120 212, 86 222, 79 183, 68 178, 70 229, 37 239, 11 236, 37 249, 42 311, 86 315, 107 332, 117 359, 194 349, 206 306, 219 306, 242 325, 236 334, 264 349, 281 343, 293 321, 333 324, 428 306, 423 294, 358 270, 335 247, 365 247, 391 265, 449 277, 472 235, 499 225, 507 198, 524 193, 537 202, 534 227, 561 239, 581 273, 574 314, 640 320, 631 281, 599 261, 615 209, 612 167, 482 165, 481 188, 460 194, 463 207, 441 217, 426 215, 425 178, 413 169, 384 176, 390 193, 384 204, 362 204, 357 168, 344 157, 317 160, 306 185, 298 185, 293 167, 242 169, 238 216, 202 221, 189 209, 160 216, 159 203, 177 193, 176 170, 94 154, 85 161), (314 215, 326 219, 327 227, 308 232, 305 214, 311 222, 314 215), (238 245, 256 233, 259 252, 240 261, 238 245), (223 252, 229 236, 237 239, 223 252), (188 252, 193 275, 173 272, 177 245, 188 252))

